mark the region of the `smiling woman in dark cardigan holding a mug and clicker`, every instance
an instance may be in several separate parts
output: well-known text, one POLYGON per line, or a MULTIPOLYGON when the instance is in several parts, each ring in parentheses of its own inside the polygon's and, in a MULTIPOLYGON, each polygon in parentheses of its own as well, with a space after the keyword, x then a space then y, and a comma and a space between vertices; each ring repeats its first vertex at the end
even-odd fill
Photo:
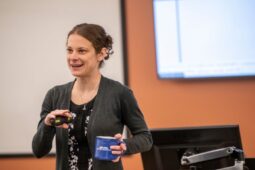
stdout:
POLYGON ((132 91, 100 73, 112 54, 112 38, 101 26, 84 23, 69 32, 66 46, 67 64, 75 80, 46 94, 33 152, 38 158, 48 154, 56 135, 58 170, 123 169, 120 156, 113 161, 94 159, 96 136, 123 141, 111 146, 116 155, 149 150, 152 137, 132 91), (55 127, 52 120, 56 116, 74 117, 74 121, 55 127), (132 138, 122 139, 124 125, 132 138))

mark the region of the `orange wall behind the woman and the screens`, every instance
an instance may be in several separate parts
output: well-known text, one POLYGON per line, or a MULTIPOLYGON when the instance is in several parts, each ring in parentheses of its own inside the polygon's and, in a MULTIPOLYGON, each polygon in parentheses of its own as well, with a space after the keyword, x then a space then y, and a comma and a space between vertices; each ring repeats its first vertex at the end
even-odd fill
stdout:
MULTIPOLYGON (((246 157, 255 157, 255 79, 159 80, 152 0, 126 0, 129 84, 150 128, 239 124, 246 157)), ((142 169, 139 154, 125 170, 142 169)), ((1 170, 55 169, 54 158, 0 159, 1 170)))

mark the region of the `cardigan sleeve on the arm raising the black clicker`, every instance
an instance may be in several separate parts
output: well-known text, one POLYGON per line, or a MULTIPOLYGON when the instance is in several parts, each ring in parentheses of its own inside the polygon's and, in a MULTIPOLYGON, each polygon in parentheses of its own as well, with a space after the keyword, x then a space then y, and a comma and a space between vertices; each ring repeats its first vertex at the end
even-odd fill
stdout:
POLYGON ((40 114, 41 118, 32 141, 32 150, 37 158, 41 158, 50 152, 56 132, 55 127, 47 126, 44 123, 46 115, 52 111, 52 95, 53 89, 49 90, 44 98, 40 114))

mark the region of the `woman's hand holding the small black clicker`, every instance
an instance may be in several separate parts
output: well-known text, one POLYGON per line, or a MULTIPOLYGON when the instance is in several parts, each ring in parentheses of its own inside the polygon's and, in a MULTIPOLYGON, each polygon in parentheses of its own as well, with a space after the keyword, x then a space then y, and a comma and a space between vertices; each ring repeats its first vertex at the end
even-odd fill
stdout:
MULTIPOLYGON (((65 116, 65 117, 72 117, 71 113, 69 110, 54 110, 51 111, 44 119, 44 123, 47 126, 51 126, 51 121, 56 119, 56 116, 65 116)), ((67 129, 68 128, 68 124, 64 123, 60 126, 57 126, 59 128, 64 128, 67 129)))

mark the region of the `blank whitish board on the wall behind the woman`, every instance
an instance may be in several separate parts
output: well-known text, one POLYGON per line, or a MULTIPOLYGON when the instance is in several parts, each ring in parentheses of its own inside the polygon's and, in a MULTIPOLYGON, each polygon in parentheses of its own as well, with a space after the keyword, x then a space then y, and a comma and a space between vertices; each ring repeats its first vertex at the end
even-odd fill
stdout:
POLYGON ((0 1, 0 154, 32 153, 41 104, 55 85, 72 81, 65 42, 73 26, 102 25, 114 54, 105 76, 123 83, 120 0, 0 1))

